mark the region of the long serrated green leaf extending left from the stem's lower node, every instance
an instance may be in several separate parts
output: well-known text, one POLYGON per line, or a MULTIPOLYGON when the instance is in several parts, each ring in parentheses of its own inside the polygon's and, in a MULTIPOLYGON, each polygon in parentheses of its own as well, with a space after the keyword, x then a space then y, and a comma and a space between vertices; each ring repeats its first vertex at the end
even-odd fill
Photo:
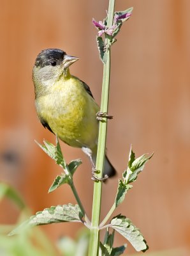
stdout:
POLYGON ((31 216, 27 221, 24 221, 20 226, 15 228, 9 235, 18 234, 20 231, 38 225, 47 225, 60 222, 82 222, 82 212, 78 205, 57 205, 44 209, 41 212, 36 212, 36 215, 31 216))

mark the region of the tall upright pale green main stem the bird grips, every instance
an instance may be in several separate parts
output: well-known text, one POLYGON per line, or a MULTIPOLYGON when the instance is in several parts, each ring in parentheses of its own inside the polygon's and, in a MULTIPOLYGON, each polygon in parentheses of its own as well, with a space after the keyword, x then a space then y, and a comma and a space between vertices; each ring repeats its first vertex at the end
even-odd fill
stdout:
MULTIPOLYGON (((113 24, 115 0, 109 1, 108 8, 108 27, 113 24)), ((112 36, 106 36, 105 43, 109 45, 112 40, 112 36)), ((101 93, 101 112, 108 112, 108 95, 110 85, 110 47, 106 49, 107 61, 103 65, 103 83, 101 93)), ((98 136, 98 151, 96 157, 96 170, 99 171, 98 177, 103 177, 103 167, 105 161, 105 144, 106 144, 106 131, 107 131, 107 120, 104 118, 103 122, 99 123, 99 136, 98 136)), ((94 182, 94 193, 92 203, 92 223, 91 223, 91 236, 89 241, 89 256, 97 256, 99 252, 99 216, 101 209, 101 189, 102 182, 94 182)))

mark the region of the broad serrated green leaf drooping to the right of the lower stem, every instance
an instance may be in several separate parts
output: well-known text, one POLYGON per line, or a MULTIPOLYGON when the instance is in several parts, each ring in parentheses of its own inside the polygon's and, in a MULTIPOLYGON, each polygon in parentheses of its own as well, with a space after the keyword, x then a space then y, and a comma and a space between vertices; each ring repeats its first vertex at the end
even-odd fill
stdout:
POLYGON ((119 234, 128 239, 129 243, 133 245, 137 252, 145 252, 145 250, 148 249, 147 243, 140 230, 125 216, 116 216, 112 219, 111 225, 119 234))

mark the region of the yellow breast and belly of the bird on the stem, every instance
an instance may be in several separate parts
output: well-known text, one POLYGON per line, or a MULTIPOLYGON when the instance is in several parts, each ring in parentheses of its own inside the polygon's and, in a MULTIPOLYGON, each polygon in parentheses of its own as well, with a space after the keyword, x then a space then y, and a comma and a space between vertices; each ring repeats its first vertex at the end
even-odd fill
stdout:
POLYGON ((94 148, 98 137, 98 105, 79 88, 60 90, 38 100, 38 114, 57 136, 72 147, 94 148), (40 112, 40 113, 39 113, 40 112))

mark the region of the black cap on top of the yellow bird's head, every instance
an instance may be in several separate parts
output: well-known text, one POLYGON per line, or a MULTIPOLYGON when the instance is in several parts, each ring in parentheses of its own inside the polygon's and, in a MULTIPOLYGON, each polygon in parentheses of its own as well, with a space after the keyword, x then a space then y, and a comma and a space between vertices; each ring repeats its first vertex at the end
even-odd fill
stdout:
POLYGON ((35 61, 36 67, 45 67, 50 65, 52 61, 56 61, 58 64, 61 63, 66 52, 60 49, 45 49, 41 51, 35 61))

